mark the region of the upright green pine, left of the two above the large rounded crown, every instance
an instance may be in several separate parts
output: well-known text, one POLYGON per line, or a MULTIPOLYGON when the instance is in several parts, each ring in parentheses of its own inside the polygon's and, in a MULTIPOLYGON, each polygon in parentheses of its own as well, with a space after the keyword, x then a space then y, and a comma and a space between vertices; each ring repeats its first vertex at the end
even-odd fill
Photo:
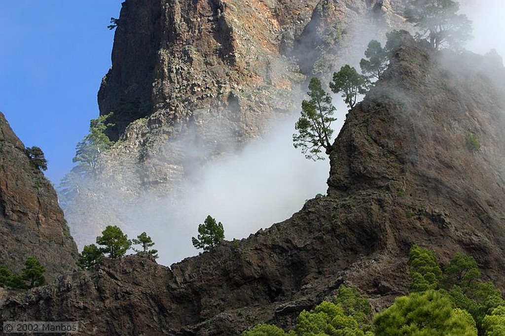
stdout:
POLYGON ((442 279, 442 270, 433 251, 417 245, 409 251, 409 274, 412 277, 410 288, 415 292, 437 289, 442 279))

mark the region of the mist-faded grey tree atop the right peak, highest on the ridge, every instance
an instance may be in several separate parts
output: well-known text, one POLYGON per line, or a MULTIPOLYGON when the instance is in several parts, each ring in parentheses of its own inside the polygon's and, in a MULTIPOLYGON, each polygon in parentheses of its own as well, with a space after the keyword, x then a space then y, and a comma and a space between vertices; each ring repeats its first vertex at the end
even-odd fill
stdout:
POLYGON ((420 29, 418 39, 427 39, 434 49, 460 47, 471 38, 472 22, 456 14, 460 5, 452 0, 409 0, 405 10, 408 22, 420 29))

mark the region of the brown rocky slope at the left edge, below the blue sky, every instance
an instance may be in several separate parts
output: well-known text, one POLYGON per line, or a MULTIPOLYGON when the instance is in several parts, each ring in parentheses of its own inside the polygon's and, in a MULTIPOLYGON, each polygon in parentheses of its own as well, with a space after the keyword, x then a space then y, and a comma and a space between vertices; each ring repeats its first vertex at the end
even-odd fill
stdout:
POLYGON ((24 150, 0 113, 0 264, 19 273, 34 256, 51 281, 75 269, 77 247, 55 190, 24 150))

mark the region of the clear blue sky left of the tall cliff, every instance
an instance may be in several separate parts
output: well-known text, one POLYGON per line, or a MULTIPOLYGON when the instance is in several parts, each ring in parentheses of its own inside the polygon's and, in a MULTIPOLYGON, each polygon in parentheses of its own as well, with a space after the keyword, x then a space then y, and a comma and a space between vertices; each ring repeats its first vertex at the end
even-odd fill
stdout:
POLYGON ((57 183, 98 116, 121 0, 0 1, 0 111, 25 146, 39 146, 57 183))

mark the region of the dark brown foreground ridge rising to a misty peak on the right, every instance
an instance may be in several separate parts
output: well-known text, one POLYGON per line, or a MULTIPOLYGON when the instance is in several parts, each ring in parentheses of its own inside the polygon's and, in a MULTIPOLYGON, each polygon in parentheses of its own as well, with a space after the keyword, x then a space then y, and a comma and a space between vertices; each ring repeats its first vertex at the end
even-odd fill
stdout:
POLYGON ((82 334, 288 326, 342 283, 376 308, 406 293, 412 244, 442 261, 471 254, 503 289, 505 70, 493 55, 435 53, 408 33, 401 40, 333 144, 327 196, 170 269, 145 256, 105 260, 7 298, 1 318, 79 320, 82 334))

